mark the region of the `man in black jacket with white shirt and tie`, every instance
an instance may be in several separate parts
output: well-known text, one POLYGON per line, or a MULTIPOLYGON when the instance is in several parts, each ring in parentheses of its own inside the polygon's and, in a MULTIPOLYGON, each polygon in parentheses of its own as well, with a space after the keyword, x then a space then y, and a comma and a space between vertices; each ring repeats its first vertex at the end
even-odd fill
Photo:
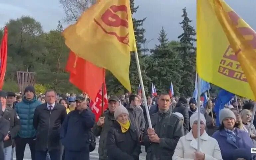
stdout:
POLYGON ((56 92, 45 93, 46 103, 37 106, 33 125, 37 129, 36 160, 45 160, 49 152, 52 160, 60 160, 60 129, 66 117, 66 109, 56 103, 56 92))

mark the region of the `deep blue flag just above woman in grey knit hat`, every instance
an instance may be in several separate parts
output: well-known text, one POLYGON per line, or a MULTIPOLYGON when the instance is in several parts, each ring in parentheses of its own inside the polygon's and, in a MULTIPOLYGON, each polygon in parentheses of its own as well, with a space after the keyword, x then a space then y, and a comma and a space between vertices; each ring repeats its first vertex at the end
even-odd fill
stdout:
POLYGON ((213 108, 213 111, 216 114, 216 126, 220 125, 219 122, 219 111, 222 110, 225 106, 225 104, 227 104, 235 95, 233 93, 230 93, 224 89, 221 89, 219 91, 218 97, 215 101, 215 106, 213 108))

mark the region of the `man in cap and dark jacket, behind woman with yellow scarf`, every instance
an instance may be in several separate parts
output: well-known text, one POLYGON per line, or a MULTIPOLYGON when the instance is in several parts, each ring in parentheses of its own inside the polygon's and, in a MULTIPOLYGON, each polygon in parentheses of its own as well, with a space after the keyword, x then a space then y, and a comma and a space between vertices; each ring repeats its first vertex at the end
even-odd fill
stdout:
MULTIPOLYGON (((112 96, 108 99, 108 110, 104 112, 103 117, 100 117, 98 122, 94 124, 92 132, 95 136, 100 136, 99 139, 99 160, 107 160, 106 138, 107 133, 115 122, 115 109, 119 107, 119 99, 117 96, 112 96), (104 125, 103 125, 104 124, 104 125)), ((97 120, 96 120, 97 121, 97 120)))

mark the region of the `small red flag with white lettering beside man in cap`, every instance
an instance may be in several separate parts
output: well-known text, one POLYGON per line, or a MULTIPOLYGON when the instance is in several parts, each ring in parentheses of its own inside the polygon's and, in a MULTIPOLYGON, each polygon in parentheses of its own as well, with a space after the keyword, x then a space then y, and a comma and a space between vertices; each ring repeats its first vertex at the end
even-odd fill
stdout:
MULTIPOLYGON (((104 82, 103 84, 103 112, 108 108, 108 100, 107 100, 107 89, 106 84, 104 82)), ((91 100, 89 107, 92 111, 92 113, 95 114, 95 121, 99 120, 99 117, 101 115, 101 106, 102 106, 102 87, 99 90, 97 96, 95 97, 95 100, 91 100)))

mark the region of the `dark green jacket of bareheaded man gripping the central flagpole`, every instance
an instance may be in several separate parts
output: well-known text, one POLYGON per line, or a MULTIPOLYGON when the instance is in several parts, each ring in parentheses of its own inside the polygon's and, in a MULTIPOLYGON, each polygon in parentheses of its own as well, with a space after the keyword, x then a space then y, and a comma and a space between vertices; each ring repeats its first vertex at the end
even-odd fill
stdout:
POLYGON ((184 136, 180 118, 170 110, 166 113, 155 113, 150 117, 152 127, 160 138, 160 144, 149 141, 147 124, 143 136, 143 142, 147 148, 146 160, 172 160, 174 149, 180 137, 184 136))

